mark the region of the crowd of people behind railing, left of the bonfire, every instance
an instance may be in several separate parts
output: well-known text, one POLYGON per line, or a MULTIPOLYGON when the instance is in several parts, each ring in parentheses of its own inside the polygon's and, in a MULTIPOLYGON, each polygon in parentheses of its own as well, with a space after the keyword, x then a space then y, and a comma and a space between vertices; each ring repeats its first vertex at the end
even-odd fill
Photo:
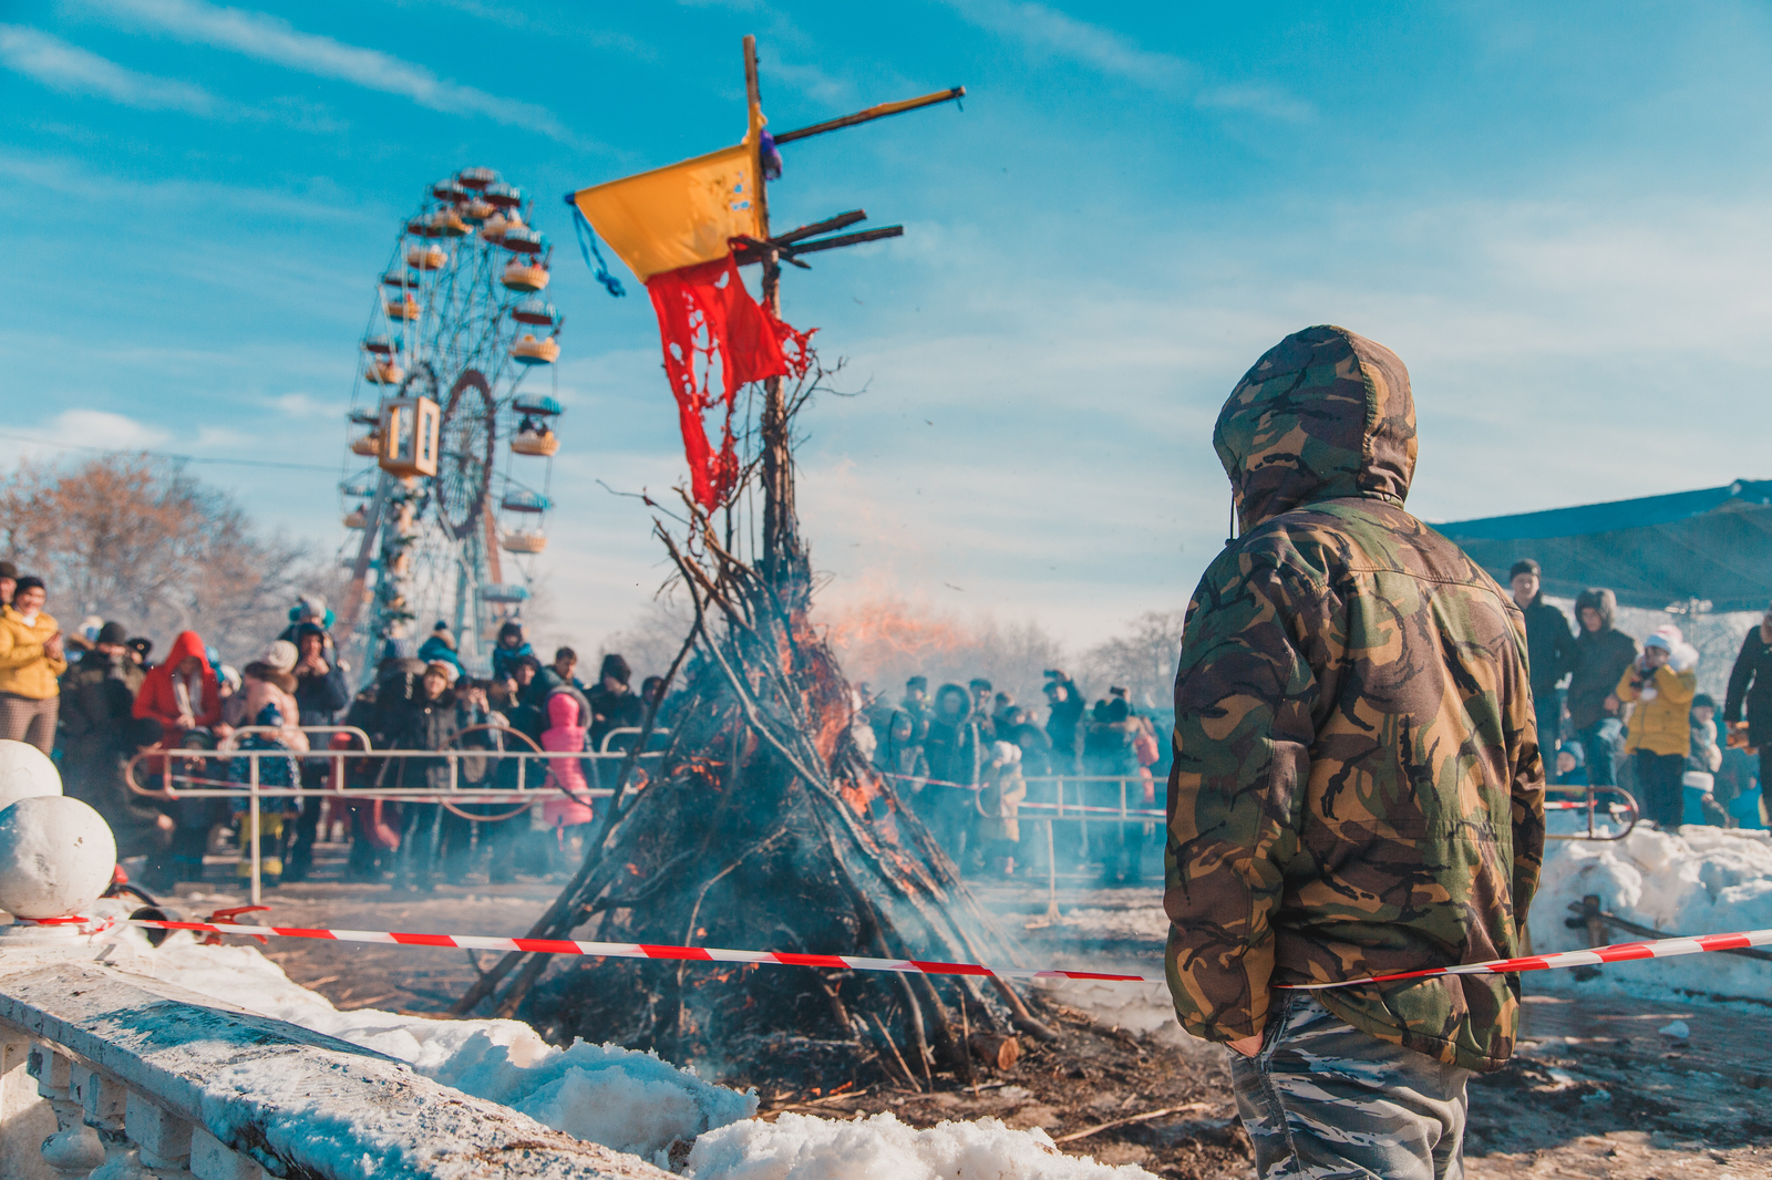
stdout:
POLYGON ((51 755, 66 792, 110 824, 119 859, 147 858, 151 888, 200 881, 218 829, 234 833, 241 875, 255 840, 262 881, 303 881, 328 815, 349 822, 347 875, 356 881, 425 889, 477 868, 493 882, 555 875, 576 863, 595 815, 587 794, 599 781, 594 758, 457 758, 459 787, 537 790, 517 806, 264 796, 257 829, 245 797, 149 797, 129 788, 126 767, 142 758, 136 781, 158 787, 165 751, 227 742, 234 757, 170 758, 174 774, 202 780, 186 785, 241 787, 257 776, 268 788, 445 790, 448 758, 314 757, 314 742, 360 749, 354 735, 328 732, 349 726, 372 749, 618 749, 617 730, 638 726, 663 684, 650 677, 636 693, 627 661, 606 656, 587 686, 572 648, 544 664, 516 620, 498 633, 491 675, 471 677, 450 627, 438 622, 422 645, 388 641, 369 687, 353 693, 319 595, 301 595, 289 625, 239 670, 195 631, 181 631, 158 661, 151 640, 117 622, 89 618, 64 631, 48 597, 43 579, 0 562, 0 739, 51 755))

